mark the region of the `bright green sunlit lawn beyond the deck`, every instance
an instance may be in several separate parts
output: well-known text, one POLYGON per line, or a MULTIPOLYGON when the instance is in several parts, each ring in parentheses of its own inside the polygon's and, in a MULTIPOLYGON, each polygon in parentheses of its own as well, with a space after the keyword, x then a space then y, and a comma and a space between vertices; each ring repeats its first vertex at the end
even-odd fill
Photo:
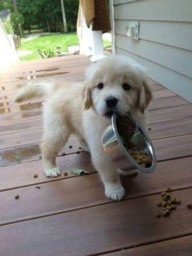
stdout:
MULTIPOLYGON (((68 46, 78 45, 76 33, 54 33, 42 34, 32 38, 23 38, 21 40, 21 50, 28 54, 20 56, 20 60, 37 60, 41 59, 37 49, 41 51, 51 51, 56 54, 56 47, 60 46, 61 51, 67 51, 68 46)), ((111 42, 104 40, 103 46, 110 46, 111 42)))

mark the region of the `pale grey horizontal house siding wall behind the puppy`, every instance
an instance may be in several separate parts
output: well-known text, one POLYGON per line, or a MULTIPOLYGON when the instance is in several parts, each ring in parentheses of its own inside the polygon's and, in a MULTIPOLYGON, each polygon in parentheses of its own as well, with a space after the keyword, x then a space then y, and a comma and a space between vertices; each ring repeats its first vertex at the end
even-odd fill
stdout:
POLYGON ((114 0, 116 54, 129 55, 149 77, 192 102, 192 1, 114 0), (139 21, 139 41, 126 36, 139 21))

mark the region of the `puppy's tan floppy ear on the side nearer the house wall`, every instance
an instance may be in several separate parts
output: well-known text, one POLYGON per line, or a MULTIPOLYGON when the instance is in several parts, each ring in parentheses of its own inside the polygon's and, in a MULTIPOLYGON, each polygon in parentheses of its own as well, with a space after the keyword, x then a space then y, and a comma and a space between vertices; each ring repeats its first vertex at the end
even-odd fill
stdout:
POLYGON ((138 103, 138 107, 142 113, 144 113, 144 111, 148 107, 149 103, 151 102, 152 97, 153 97, 153 95, 152 95, 150 86, 148 85, 146 80, 143 80, 142 86, 140 89, 139 103, 138 103))

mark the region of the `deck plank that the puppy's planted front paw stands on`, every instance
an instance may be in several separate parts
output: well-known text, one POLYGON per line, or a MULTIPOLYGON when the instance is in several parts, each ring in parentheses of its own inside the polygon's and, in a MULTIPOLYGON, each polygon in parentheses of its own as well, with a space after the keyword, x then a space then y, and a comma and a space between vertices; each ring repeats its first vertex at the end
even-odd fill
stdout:
MULTIPOLYGON (((71 160, 73 166, 76 165, 79 166, 78 168, 89 170, 90 173, 94 170, 91 168, 89 161, 81 160, 80 157, 78 158, 79 163, 77 157, 73 159, 70 156, 67 160, 68 163, 71 160)), ((172 190, 192 188, 191 161, 192 157, 160 162, 153 174, 147 175, 140 172, 137 177, 122 177, 124 188, 127 191, 126 198, 131 199, 159 193, 168 187, 171 187, 172 190)), ((25 185, 33 183, 33 185, 0 193, 0 201, 2 202, 0 225, 109 202, 104 195, 103 184, 98 174, 72 178, 72 174, 69 173, 69 177, 72 179, 66 179, 63 176, 63 179, 54 181, 54 179, 43 177, 41 171, 37 171, 37 169, 32 170, 30 174, 28 170, 24 169, 18 172, 17 175, 20 176, 16 184, 13 174, 10 177, 9 174, 10 172, 2 174, 0 182, 2 188, 3 181, 7 178, 9 179, 10 188, 14 188, 15 185, 18 186, 20 183, 23 185, 24 183, 25 185), (33 179, 33 174, 38 175, 37 179, 33 179), (51 182, 48 182, 50 180, 51 182), (42 183, 42 181, 47 182, 42 183), (36 188, 37 183, 39 189, 36 188), (15 201, 15 195, 20 195, 19 201, 15 201)))

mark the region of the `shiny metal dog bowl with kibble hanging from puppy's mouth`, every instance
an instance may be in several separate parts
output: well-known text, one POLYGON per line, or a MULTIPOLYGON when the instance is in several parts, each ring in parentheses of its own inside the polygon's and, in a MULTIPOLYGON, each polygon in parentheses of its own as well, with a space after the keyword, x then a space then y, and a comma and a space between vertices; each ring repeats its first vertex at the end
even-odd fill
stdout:
POLYGON ((120 170, 138 169, 144 173, 151 173, 155 170, 155 149, 151 140, 142 125, 129 113, 123 117, 113 114, 111 125, 103 133, 103 148, 120 170), (129 127, 125 133, 120 131, 120 118, 124 118, 124 123, 127 122, 129 127), (137 156, 148 159, 147 164, 137 159, 137 156))

